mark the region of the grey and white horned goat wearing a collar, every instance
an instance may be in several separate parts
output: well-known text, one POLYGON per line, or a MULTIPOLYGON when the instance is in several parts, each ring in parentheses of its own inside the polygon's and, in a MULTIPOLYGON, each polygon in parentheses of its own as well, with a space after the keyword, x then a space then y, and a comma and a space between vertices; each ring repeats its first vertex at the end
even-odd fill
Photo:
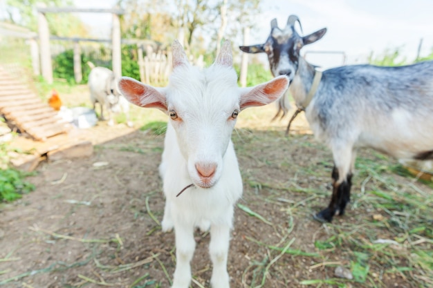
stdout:
MULTIPOLYGON (((315 215, 331 222, 350 200, 356 151, 361 147, 399 159, 433 159, 433 61, 410 66, 342 66, 320 72, 300 50, 323 37, 326 28, 300 36, 295 15, 284 29, 277 20, 265 44, 241 46, 266 52, 274 76, 287 75, 288 91, 306 113, 315 137, 333 153, 333 193, 329 206, 315 215)), ((287 111, 286 101, 280 108, 287 111)))

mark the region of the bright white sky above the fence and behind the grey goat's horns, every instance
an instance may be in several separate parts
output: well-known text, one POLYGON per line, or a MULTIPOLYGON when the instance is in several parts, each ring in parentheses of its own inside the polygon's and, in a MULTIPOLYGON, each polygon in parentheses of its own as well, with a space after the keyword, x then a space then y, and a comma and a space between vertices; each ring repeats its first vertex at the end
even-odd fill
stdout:
MULTIPOLYGON (((115 1, 74 2, 80 8, 109 8, 115 1)), ((304 53, 344 51, 347 64, 365 63, 371 51, 378 56, 394 48, 401 48, 404 57, 412 61, 421 39, 421 57, 430 54, 433 48, 431 0, 262 0, 261 8, 261 14, 256 17, 257 26, 251 30, 250 44, 266 40, 273 18, 284 28, 288 16, 294 14, 300 18, 304 35, 320 28, 328 29, 322 39, 306 46, 304 53)), ((89 24, 99 26, 96 29, 100 31, 111 27, 109 15, 87 18, 91 18, 89 24)), ((342 55, 308 54, 306 58, 325 67, 342 64, 342 55)))

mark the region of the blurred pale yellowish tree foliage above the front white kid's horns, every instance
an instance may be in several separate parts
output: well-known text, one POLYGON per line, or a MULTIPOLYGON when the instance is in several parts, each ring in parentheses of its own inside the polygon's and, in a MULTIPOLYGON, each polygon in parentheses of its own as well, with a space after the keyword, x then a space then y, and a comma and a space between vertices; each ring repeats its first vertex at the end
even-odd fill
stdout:
MULTIPOLYGON (((260 12, 260 3, 261 0, 228 1, 230 27, 225 29, 224 37, 234 41, 242 37, 243 28, 254 27, 257 24, 254 15, 260 12)), ((125 10, 125 15, 120 17, 124 38, 150 39, 166 47, 182 30, 188 55, 197 56, 215 50, 216 31, 221 26, 222 1, 118 0, 118 5, 125 10)), ((238 50, 234 52, 239 53, 238 50)))

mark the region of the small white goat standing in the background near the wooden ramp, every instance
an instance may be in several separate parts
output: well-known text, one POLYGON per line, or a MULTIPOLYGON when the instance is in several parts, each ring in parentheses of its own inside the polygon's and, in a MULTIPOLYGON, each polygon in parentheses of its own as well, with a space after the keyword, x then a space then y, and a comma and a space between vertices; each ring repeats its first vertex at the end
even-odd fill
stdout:
MULTIPOLYGON (((93 66, 89 64, 89 66, 93 66)), ((113 113, 123 112, 127 117, 127 125, 132 127, 133 124, 129 119, 129 102, 119 91, 118 79, 113 71, 105 67, 92 67, 89 73, 89 90, 90 101, 93 104, 93 110, 96 103, 100 104, 100 119, 104 120, 104 110, 108 113, 108 124, 113 126, 113 113)), ((96 112, 96 111, 95 111, 96 112)))

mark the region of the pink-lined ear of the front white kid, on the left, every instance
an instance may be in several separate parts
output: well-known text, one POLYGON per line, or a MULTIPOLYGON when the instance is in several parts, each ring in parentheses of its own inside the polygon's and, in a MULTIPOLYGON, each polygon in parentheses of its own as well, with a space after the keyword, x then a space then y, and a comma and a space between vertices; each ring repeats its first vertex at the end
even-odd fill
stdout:
POLYGON ((146 108, 158 108, 167 111, 167 99, 156 88, 142 84, 130 77, 121 77, 119 81, 120 93, 132 104, 146 108))

